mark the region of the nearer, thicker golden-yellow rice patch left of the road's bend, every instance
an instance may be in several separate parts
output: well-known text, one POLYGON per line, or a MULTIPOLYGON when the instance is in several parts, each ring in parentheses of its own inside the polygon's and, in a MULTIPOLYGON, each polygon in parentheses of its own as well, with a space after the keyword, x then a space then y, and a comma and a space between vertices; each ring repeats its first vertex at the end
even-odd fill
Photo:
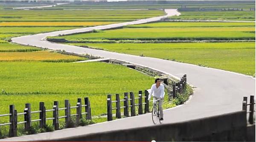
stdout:
POLYGON ((86 58, 64 55, 50 51, 35 52, 1 52, 0 61, 82 61, 86 58))

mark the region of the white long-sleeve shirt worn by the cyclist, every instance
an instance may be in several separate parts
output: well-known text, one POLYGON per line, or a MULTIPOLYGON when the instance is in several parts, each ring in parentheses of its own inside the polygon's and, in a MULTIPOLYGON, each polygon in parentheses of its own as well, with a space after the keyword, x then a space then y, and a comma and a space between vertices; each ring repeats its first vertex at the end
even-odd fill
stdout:
POLYGON ((150 99, 152 95, 153 95, 153 97, 156 97, 157 99, 163 98, 164 94, 165 94, 163 84, 160 84, 160 86, 158 88, 157 88, 157 84, 153 84, 151 86, 151 89, 148 90, 148 92, 149 92, 148 99, 150 99))

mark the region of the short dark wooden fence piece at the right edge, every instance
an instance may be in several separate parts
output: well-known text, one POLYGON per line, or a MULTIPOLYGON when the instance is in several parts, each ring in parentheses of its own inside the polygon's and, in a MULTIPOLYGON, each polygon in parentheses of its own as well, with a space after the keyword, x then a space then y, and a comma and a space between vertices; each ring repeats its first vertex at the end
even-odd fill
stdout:
POLYGON ((255 100, 253 95, 250 96, 250 103, 248 104, 247 104, 247 97, 244 97, 242 108, 243 108, 243 111, 246 111, 247 113, 249 113, 248 123, 249 124, 255 123, 255 100), (247 106, 249 106, 249 111, 247 111, 247 106))

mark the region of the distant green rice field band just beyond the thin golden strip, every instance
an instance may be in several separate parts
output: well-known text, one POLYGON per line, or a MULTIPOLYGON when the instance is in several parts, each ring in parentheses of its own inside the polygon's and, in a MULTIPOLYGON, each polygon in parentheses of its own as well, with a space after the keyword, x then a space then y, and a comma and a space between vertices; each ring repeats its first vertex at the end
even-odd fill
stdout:
POLYGON ((163 15, 161 10, 0 10, 1 22, 123 22, 163 15), (8 16, 6 16, 8 15, 8 16))

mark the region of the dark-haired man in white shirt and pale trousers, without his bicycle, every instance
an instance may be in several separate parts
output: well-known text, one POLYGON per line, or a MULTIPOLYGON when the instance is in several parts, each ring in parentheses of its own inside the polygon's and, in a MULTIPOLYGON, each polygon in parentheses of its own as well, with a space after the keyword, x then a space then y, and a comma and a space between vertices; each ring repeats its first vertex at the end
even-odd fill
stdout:
POLYGON ((164 97, 164 85, 161 84, 160 78, 155 80, 155 84, 151 86, 151 91, 148 95, 148 100, 150 100, 151 95, 153 94, 153 100, 159 100, 159 111, 160 111, 160 120, 163 120, 163 97, 164 97))

